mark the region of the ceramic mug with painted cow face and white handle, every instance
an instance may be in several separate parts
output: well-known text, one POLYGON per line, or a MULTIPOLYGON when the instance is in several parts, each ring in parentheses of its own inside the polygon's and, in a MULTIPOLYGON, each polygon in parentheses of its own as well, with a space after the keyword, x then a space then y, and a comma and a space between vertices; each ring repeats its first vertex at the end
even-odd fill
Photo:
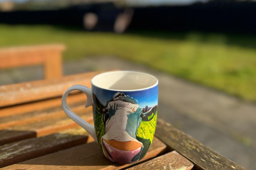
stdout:
POLYGON ((111 71, 96 75, 91 87, 70 87, 62 97, 65 113, 99 143, 110 161, 127 164, 142 159, 155 133, 158 80, 145 73, 111 71), (94 127, 67 106, 73 90, 87 95, 85 107, 93 106, 94 127))

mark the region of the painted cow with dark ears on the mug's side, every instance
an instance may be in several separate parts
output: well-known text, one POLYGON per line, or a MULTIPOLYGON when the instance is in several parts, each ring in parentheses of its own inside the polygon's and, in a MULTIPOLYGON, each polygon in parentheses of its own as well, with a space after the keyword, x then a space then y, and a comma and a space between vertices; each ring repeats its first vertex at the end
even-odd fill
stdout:
MULTIPOLYGON (((150 122, 155 117, 156 122, 157 105, 143 113, 137 103, 133 97, 117 92, 103 105, 93 93, 94 116, 99 118, 99 121, 94 122, 98 142, 104 155, 112 162, 136 162, 145 156, 151 144, 149 139, 139 137, 137 131, 143 121, 150 122), (100 133, 102 128, 105 131, 100 133)), ((153 139, 154 128, 150 132, 141 131, 150 133, 153 139)))

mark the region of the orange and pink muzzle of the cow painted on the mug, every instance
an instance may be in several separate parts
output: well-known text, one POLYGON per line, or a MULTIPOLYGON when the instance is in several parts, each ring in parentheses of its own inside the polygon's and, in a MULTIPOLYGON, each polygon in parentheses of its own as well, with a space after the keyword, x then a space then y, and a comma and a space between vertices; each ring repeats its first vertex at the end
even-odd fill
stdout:
POLYGON ((120 142, 114 139, 106 140, 102 138, 102 147, 112 162, 127 164, 134 162, 132 159, 141 152, 143 145, 135 141, 120 142))

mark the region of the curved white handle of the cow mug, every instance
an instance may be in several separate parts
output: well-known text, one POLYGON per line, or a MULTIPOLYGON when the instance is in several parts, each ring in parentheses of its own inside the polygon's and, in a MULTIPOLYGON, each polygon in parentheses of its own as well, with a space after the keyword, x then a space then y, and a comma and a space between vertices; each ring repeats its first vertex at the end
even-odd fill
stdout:
POLYGON ((95 142, 98 142, 94 127, 92 125, 90 125, 88 122, 86 122, 85 120, 83 120, 81 117, 77 116, 67 106, 67 95, 73 90, 79 90, 79 91, 85 93, 87 96, 87 101, 86 101, 85 107, 91 106, 91 104, 92 104, 91 89, 88 87, 82 86, 82 85, 75 85, 75 86, 71 86, 70 88, 68 88, 65 91, 65 93, 63 94, 62 101, 61 101, 62 108, 63 108, 64 112, 67 114, 67 116, 69 116, 73 121, 75 121, 77 124, 82 126, 93 137, 95 142))

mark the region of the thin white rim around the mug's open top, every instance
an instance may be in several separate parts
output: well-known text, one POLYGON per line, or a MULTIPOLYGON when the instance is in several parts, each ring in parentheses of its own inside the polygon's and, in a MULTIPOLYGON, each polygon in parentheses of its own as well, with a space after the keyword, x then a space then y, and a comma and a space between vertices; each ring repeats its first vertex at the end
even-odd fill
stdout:
POLYGON ((98 75, 94 76, 94 77, 91 79, 91 84, 92 84, 93 86, 95 86, 95 87, 100 88, 100 89, 110 90, 110 91, 124 91, 124 92, 125 92, 125 91, 142 91, 142 90, 147 90, 147 89, 150 89, 150 88, 153 88, 153 87, 157 86, 157 85, 158 85, 158 79, 157 79, 155 76, 151 75, 151 74, 147 74, 147 73, 143 73, 143 72, 139 72, 139 71, 107 71, 107 72, 104 72, 104 73, 101 73, 101 74, 98 74, 98 75), (151 78, 154 78, 154 79, 156 80, 156 83, 153 84, 152 86, 149 86, 149 87, 140 88, 140 89, 133 89, 133 90, 118 90, 118 89, 102 88, 102 87, 99 87, 99 86, 97 86, 97 85, 95 85, 95 84, 93 83, 93 79, 95 79, 95 78, 97 78, 97 77, 99 77, 99 76, 102 76, 102 75, 104 75, 104 74, 118 73, 118 72, 122 72, 122 73, 138 73, 138 74, 144 74, 144 75, 147 75, 147 76, 149 76, 149 77, 151 77, 151 78))

